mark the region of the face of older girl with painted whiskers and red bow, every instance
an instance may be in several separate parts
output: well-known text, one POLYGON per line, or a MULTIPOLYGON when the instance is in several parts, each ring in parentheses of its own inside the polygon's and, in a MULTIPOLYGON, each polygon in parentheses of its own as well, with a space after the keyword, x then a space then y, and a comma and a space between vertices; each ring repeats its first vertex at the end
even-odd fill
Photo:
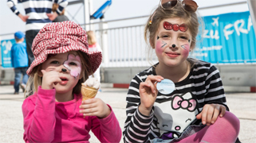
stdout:
POLYGON ((154 48, 160 64, 175 67, 186 61, 192 36, 184 23, 182 18, 167 18, 160 22, 154 38, 154 48), (172 44, 175 44, 175 48, 172 48, 172 44))

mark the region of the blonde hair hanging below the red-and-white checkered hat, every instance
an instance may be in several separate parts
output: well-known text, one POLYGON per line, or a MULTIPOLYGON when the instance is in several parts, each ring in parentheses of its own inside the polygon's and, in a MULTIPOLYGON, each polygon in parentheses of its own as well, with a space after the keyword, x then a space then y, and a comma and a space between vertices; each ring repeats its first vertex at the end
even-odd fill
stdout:
MULTIPOLYGON (((81 74, 82 78, 78 80, 77 85, 73 88, 73 94, 81 93, 81 83, 84 83, 86 79, 89 78, 91 73, 91 65, 89 64, 89 56, 85 52, 74 51, 81 58, 81 74)), ((33 68, 33 71, 30 74, 30 78, 26 84, 26 91, 24 93, 25 98, 30 95, 33 95, 34 92, 38 91, 38 86, 41 86, 42 77, 38 75, 41 70, 41 64, 37 65, 37 67, 33 68)))

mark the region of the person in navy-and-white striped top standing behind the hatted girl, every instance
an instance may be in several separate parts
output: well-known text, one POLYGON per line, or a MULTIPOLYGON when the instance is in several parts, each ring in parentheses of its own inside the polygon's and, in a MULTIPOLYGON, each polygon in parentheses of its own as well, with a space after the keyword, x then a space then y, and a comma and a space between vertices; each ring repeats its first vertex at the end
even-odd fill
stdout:
POLYGON ((18 15, 22 21, 26 22, 26 51, 29 57, 29 66, 33 62, 33 52, 31 46, 33 38, 36 37, 37 33, 47 23, 52 22, 57 15, 61 14, 62 10, 68 5, 67 0, 45 0, 45 1, 34 1, 34 0, 7 0, 7 6, 14 14, 18 15), (22 3, 25 9, 26 15, 22 15, 16 5, 22 3), (57 3, 58 9, 51 14, 53 3, 57 3))

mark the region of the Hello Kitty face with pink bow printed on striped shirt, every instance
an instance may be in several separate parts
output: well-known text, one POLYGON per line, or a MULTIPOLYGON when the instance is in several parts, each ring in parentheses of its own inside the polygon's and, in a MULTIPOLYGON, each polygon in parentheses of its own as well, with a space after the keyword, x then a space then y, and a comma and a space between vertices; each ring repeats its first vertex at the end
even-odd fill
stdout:
POLYGON ((183 131, 196 121, 199 114, 197 101, 190 92, 183 95, 174 95, 165 102, 154 103, 156 129, 159 136, 164 138, 177 138, 183 131))

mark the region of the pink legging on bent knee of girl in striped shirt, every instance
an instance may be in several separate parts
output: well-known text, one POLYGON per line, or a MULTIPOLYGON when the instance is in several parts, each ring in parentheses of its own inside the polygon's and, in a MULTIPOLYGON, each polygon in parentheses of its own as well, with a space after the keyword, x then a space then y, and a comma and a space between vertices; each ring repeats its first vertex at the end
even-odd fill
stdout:
POLYGON ((179 141, 182 142, 234 142, 239 133, 240 122, 234 114, 226 111, 222 118, 217 118, 211 126, 206 126, 199 132, 179 141))

